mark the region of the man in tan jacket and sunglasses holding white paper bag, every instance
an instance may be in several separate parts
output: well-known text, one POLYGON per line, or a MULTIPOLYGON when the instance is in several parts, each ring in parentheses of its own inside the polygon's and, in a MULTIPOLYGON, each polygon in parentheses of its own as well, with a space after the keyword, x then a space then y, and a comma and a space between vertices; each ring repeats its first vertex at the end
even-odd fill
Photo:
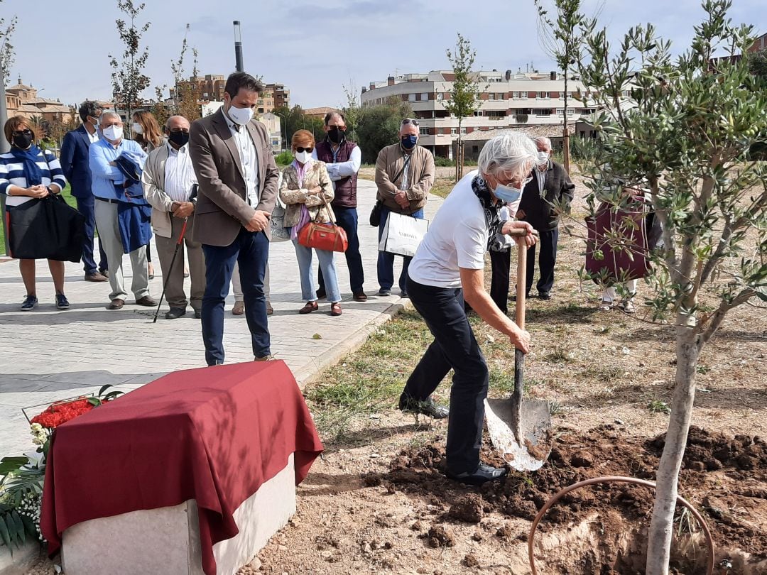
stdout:
MULTIPOLYGON (((423 219, 423 208, 429 190, 434 185, 434 156, 418 146, 418 122, 405 118, 400 124, 400 141, 386 146, 378 153, 376 160, 376 186, 381 205, 381 220, 378 226, 378 241, 386 228, 390 212, 412 215, 423 219)), ((403 256, 400 274, 400 291, 407 297, 407 268, 413 258, 403 256)), ((394 254, 378 252, 378 295, 391 294, 394 284, 394 254)))

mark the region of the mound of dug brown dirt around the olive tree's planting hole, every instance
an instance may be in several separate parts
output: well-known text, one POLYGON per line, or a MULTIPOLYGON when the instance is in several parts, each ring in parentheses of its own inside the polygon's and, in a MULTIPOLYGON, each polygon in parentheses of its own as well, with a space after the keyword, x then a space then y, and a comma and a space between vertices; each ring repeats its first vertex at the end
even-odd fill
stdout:
MULTIPOLYGON (((393 459, 388 473, 370 476, 367 483, 418 494, 443 508, 445 521, 477 523, 482 514, 492 511, 530 521, 555 492, 584 479, 624 475, 654 481, 664 439, 663 435, 649 441, 637 439, 617 426, 585 433, 566 430, 558 434, 549 462, 538 471, 512 471, 505 481, 472 491, 445 477, 444 449, 432 444, 404 450, 393 459)), ((489 446, 483 447, 482 459, 503 465, 489 446)), ((719 548, 767 557, 767 444, 762 439, 727 438, 690 429, 680 494, 703 509, 719 548)), ((593 485, 565 495, 548 511, 539 530, 573 524, 594 511, 607 517, 609 511, 617 510, 628 521, 649 524, 652 507, 649 488, 593 485)))

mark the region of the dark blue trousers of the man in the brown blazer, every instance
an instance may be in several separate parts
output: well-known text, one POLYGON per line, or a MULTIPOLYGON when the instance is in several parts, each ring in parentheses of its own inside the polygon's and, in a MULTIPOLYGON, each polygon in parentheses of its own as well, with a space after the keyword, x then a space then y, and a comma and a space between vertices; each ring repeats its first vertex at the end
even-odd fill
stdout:
POLYGON ((269 241, 263 232, 242 228, 230 245, 202 245, 205 254, 205 295, 202 296, 202 343, 209 366, 224 361, 224 300, 235 261, 239 263, 245 318, 253 342, 253 355, 266 357, 270 349, 266 319, 264 273, 269 258, 269 241))

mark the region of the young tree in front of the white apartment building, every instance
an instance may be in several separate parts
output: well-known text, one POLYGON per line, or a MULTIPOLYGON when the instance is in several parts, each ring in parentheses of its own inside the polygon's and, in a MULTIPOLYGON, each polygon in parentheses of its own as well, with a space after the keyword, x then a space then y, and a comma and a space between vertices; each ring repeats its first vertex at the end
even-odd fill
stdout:
POLYGON ((458 157, 456 158, 456 181, 463 177, 463 119, 479 110, 479 83, 473 77, 472 67, 476 50, 462 35, 458 35, 454 51, 447 49, 447 59, 453 66, 453 90, 450 99, 443 102, 445 110, 458 118, 458 157))

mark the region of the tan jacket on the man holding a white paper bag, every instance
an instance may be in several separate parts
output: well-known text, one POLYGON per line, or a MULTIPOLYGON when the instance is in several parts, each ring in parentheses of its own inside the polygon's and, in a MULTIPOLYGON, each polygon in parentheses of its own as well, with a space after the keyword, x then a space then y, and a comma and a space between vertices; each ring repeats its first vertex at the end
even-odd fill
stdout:
POLYGON ((412 214, 426 205, 429 190, 434 185, 434 156, 423 146, 416 146, 410 153, 410 163, 407 173, 409 189, 405 190, 410 207, 402 209, 394 201, 394 195, 402 184, 402 166, 405 154, 399 143, 386 146, 378 153, 376 160, 376 186, 378 199, 384 200, 384 205, 392 212, 412 214), (392 181, 393 178, 397 178, 392 181))

